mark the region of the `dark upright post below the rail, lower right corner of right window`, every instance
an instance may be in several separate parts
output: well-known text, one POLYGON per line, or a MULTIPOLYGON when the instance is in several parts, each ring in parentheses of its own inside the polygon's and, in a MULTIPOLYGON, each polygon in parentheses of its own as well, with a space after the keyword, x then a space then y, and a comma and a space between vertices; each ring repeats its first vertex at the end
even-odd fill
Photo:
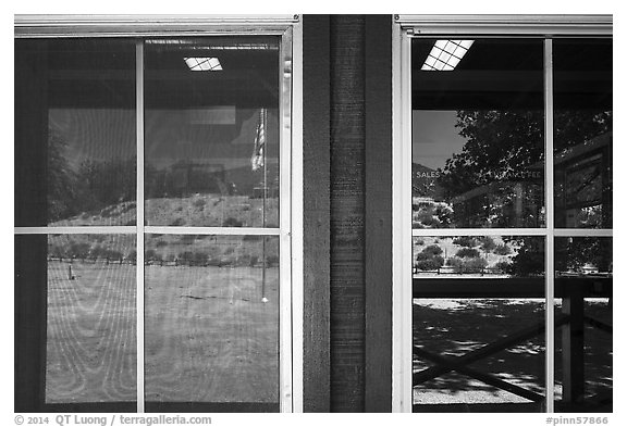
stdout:
POLYGON ((563 400, 577 405, 583 399, 583 289, 569 282, 564 287, 562 312, 569 322, 562 328, 563 400))

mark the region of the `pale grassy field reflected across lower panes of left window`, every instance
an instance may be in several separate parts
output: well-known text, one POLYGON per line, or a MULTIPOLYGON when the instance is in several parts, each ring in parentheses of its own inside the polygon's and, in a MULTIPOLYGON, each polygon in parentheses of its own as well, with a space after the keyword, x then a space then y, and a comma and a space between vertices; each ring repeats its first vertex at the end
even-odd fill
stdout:
MULTIPOLYGON (((46 402, 136 400, 136 267, 48 265, 46 402)), ((147 401, 275 402, 279 269, 147 266, 147 401)))

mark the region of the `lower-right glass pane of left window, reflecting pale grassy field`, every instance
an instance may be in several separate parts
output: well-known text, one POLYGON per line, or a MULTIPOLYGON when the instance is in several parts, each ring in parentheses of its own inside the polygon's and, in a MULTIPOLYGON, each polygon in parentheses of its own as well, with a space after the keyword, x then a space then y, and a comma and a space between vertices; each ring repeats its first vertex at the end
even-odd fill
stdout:
POLYGON ((279 411, 279 239, 149 235, 146 401, 279 411))

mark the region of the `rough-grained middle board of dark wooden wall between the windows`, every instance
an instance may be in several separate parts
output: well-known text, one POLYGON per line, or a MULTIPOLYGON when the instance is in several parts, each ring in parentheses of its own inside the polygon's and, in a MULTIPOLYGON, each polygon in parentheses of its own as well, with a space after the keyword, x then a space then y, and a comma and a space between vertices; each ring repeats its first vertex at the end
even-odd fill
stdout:
POLYGON ((333 15, 331 30, 331 410, 364 411, 362 16, 333 15))

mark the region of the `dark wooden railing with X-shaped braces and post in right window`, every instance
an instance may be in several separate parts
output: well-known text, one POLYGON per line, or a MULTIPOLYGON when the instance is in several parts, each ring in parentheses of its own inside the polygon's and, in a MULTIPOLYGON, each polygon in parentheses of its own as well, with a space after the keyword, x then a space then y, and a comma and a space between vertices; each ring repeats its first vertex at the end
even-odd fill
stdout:
MULTIPOLYGON (((585 393, 585 324, 612 334, 612 325, 586 315, 586 298, 612 298, 612 277, 588 275, 555 279, 554 296, 562 299, 562 312, 555 315, 555 328, 562 328, 563 402, 576 404, 585 393)), ((545 282, 539 278, 414 278, 415 299, 544 299, 545 282)), ((499 351, 512 348, 543 334, 545 323, 539 322, 527 328, 488 343, 462 356, 442 356, 414 346, 414 354, 434 363, 434 366, 413 375, 416 387, 450 372, 457 372, 484 384, 509 391, 533 402, 544 397, 507 382, 495 375, 479 372, 468 365, 499 351)))

